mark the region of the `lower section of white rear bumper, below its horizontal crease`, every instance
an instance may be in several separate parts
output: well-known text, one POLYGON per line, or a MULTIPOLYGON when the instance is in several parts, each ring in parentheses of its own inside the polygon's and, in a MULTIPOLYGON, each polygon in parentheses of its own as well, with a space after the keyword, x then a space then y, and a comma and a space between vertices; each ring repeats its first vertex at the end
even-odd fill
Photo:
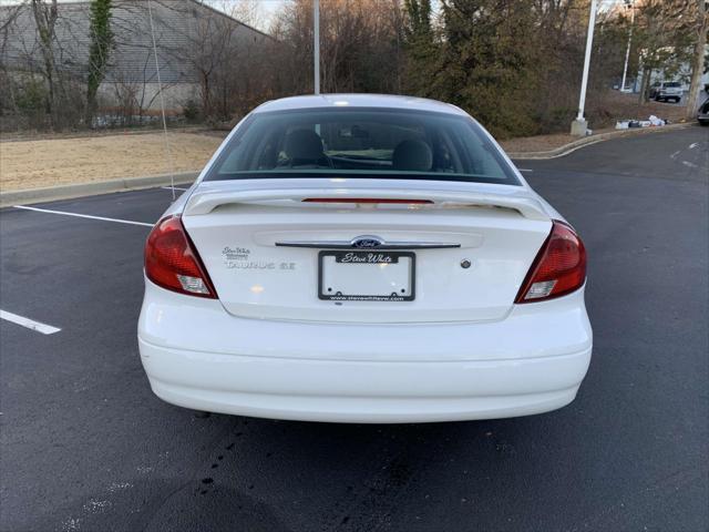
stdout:
POLYGON ((352 362, 240 357, 141 341, 155 395, 173 405, 259 418, 423 422, 505 418, 576 397, 590 349, 497 362, 352 362))

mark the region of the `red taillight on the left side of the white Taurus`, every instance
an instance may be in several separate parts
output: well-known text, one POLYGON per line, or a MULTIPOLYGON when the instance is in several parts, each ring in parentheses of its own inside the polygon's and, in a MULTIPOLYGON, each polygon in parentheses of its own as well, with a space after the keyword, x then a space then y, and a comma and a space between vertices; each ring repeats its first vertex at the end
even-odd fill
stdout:
POLYGON ((145 243, 145 275, 168 290, 216 299, 216 291, 179 216, 161 219, 145 243))

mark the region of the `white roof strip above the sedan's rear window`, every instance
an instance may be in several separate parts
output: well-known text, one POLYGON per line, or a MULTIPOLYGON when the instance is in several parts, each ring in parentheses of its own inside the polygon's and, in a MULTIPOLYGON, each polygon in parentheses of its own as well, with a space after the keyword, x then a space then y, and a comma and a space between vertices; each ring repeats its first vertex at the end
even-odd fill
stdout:
POLYGON ((409 109, 467 116, 460 108, 450 103, 425 98, 399 96, 393 94, 318 94, 307 96, 281 98, 266 102, 254 110, 255 113, 289 111, 295 109, 323 108, 381 108, 409 109))

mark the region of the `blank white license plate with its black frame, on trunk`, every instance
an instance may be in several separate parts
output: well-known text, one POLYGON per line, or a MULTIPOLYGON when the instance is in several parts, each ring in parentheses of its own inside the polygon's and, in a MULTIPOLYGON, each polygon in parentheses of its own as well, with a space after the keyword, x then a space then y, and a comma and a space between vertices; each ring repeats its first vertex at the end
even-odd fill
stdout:
POLYGON ((320 252, 318 297, 335 301, 412 301, 411 252, 320 252))

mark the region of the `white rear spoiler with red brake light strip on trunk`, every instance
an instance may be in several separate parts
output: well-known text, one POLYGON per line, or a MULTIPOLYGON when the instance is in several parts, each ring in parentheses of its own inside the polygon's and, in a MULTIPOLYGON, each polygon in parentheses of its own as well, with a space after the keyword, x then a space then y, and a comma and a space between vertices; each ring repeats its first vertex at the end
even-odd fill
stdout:
POLYGON ((466 191, 431 191, 402 188, 278 188, 278 190, 246 190, 246 191, 195 191, 184 208, 185 216, 209 214, 224 205, 251 204, 278 207, 312 207, 329 206, 341 208, 342 204, 350 204, 357 208, 362 204, 402 203, 410 200, 418 204, 418 208, 454 208, 454 207, 500 207, 518 212, 528 219, 548 221, 549 216, 542 203, 531 196, 524 188, 513 194, 479 193, 466 191), (322 203, 318 198, 323 200, 322 203))

